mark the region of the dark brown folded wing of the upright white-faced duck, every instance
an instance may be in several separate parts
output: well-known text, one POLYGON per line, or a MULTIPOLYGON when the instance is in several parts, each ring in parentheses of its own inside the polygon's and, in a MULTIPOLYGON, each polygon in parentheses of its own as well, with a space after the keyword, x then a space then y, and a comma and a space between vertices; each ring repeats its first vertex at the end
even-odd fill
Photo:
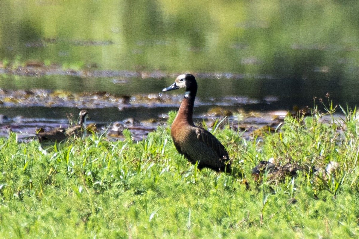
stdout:
POLYGON ((205 143, 209 148, 214 150, 220 160, 223 160, 224 162, 229 161, 227 150, 213 134, 205 129, 196 127, 196 135, 200 142, 205 143))

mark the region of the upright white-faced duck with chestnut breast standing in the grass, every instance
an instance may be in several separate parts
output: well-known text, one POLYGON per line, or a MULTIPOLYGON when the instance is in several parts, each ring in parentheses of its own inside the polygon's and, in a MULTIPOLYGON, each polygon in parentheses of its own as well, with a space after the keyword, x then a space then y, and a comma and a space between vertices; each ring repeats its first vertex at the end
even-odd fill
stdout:
POLYGON ((185 89, 185 96, 171 126, 171 136, 177 151, 197 168, 216 172, 230 172, 231 161, 227 150, 213 134, 193 123, 193 109, 197 93, 193 75, 179 75, 174 83, 162 91, 185 89))

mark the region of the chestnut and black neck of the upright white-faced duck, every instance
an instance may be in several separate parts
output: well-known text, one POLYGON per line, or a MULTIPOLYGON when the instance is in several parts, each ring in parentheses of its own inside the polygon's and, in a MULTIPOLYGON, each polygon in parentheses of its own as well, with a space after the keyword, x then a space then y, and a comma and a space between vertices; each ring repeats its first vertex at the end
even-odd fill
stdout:
POLYGON ((197 93, 197 86, 194 89, 186 91, 185 97, 182 100, 180 109, 178 110, 178 114, 176 118, 185 121, 185 123, 189 125, 193 124, 193 107, 195 103, 195 97, 197 93))

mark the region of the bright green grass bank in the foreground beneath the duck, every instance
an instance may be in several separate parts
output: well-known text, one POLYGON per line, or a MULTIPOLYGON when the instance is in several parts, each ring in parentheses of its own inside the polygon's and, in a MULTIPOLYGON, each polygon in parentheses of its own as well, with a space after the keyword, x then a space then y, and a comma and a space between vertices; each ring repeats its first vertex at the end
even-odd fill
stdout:
POLYGON ((140 142, 128 131, 123 142, 71 139, 47 155, 10 134, 0 139, 0 238, 357 238, 359 125, 351 113, 329 124, 321 116, 288 116, 255 141, 217 129, 249 188, 196 171, 169 128, 140 142), (253 181, 251 169, 270 158, 303 171, 253 181), (331 161, 339 166, 326 173, 331 161))

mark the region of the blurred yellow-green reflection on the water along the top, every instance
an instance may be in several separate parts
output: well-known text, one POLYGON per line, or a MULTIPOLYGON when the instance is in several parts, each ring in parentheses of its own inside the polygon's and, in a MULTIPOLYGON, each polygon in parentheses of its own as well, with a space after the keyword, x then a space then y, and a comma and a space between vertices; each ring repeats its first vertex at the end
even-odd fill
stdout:
POLYGON ((358 67, 356 1, 0 4, 0 56, 10 62, 291 78, 313 67, 348 78, 358 67))

